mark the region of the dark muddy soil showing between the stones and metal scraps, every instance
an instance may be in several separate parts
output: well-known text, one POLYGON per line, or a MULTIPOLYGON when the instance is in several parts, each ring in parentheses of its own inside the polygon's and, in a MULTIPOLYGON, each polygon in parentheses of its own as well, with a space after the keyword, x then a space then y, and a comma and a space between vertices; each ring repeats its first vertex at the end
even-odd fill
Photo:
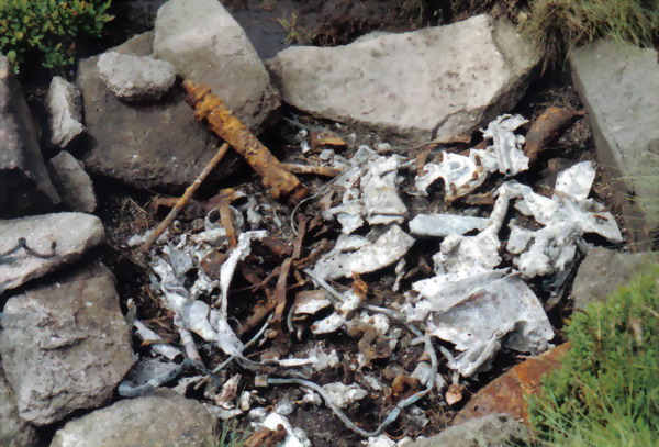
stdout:
MULTIPOLYGON (((89 44, 82 48, 83 53, 94 54, 104 48, 116 45, 125 38, 149 30, 153 26, 155 11, 164 1, 116 1, 114 4, 114 14, 116 19, 108 27, 104 38, 100 43, 89 44)), ((257 48, 259 55, 264 58, 273 56, 277 52, 293 44, 313 44, 313 45, 339 45, 354 41, 356 37, 371 31, 410 31, 418 27, 450 23, 454 20, 462 20, 468 16, 471 10, 459 10, 451 8, 439 9, 439 4, 446 2, 433 2, 422 0, 328 0, 323 2, 316 1, 293 1, 293 0, 228 0, 224 2, 227 8, 234 13, 236 20, 245 27, 253 44, 257 48), (320 5, 319 5, 320 3, 320 5)), ((468 3, 468 2, 467 2, 468 3)), ((501 13, 501 11, 500 11, 501 13)), ((81 49, 81 51, 82 51, 81 49)), ((68 72, 67 77, 72 74, 68 72)), ((23 74, 23 81, 27 85, 31 105, 41 112, 41 100, 45 93, 47 85, 43 83, 37 71, 23 74)), ((554 69, 538 76, 528 89, 527 94, 522 99, 520 104, 511 113, 521 113, 526 119, 533 120, 549 105, 566 107, 572 110, 581 110, 582 104, 571 85, 570 77, 562 69, 554 69)), ((41 114, 41 113, 40 113, 41 114)), ((282 120, 271 127, 261 141, 281 158, 287 160, 299 160, 299 143, 294 136, 299 132, 301 123, 306 128, 332 128, 340 135, 347 136, 353 133, 349 126, 343 126, 337 130, 333 123, 316 120, 305 116, 291 108, 283 108, 282 120)), ((524 133, 524 132, 522 132, 524 133)), ((472 144, 478 143, 478 135, 474 135, 472 144)), ((372 144, 377 142, 377 137, 368 133, 358 132, 357 142, 351 144, 351 149, 348 149, 344 156, 349 157, 349 152, 354 150, 359 144, 372 144)), ((469 145, 455 146, 453 149, 459 150, 471 147, 469 145)), ((83 150, 83 148, 79 148, 83 150)), ((416 154, 410 154, 415 156, 416 154)), ((520 180, 533 185, 539 192, 550 193, 556 174, 562 168, 570 166, 576 160, 595 161, 592 132, 588 123, 588 119, 579 120, 554 146, 552 149, 543 153, 538 166, 523 176, 520 180), (544 188, 544 190, 543 190, 544 188)), ((302 180, 311 190, 320 188, 325 180, 321 180, 313 176, 301 176, 302 180)), ((610 200, 611 192, 607 188, 608 181, 602 177, 602 170, 599 169, 599 175, 593 188, 593 198, 603 202, 614 215, 617 212, 612 208, 610 200)), ((161 197, 158 191, 137 191, 125 186, 119 185, 113 180, 105 178, 94 178, 94 186, 100 203, 98 214, 105 224, 109 247, 104 249, 104 260, 111 267, 118 277, 119 292, 122 299, 122 305, 127 299, 135 300, 138 309, 138 316, 142 321, 149 324, 150 327, 157 329, 163 338, 168 339, 176 331, 172 329, 171 315, 164 311, 159 305, 154 292, 148 287, 149 272, 144 269, 139 260, 136 259, 135 253, 127 247, 127 239, 136 234, 144 233, 146 230, 155 226, 168 209, 166 206, 155 206, 154 199, 161 197)), ((495 187, 496 185, 490 185, 495 187)), ((257 200, 268 203, 272 206, 272 213, 277 213, 284 221, 280 227, 270 222, 270 234, 280 237, 283 241, 291 242, 293 234, 288 219, 291 214, 291 209, 272 201, 261 189, 258 179, 250 170, 243 166, 242 170, 234 177, 234 181, 225 185, 212 185, 202 188, 196 197, 197 203, 186 212, 181 219, 181 225, 177 228, 178 232, 191 231, 193 220, 205 214, 203 201, 212 198, 219 189, 232 187, 244 191, 247 194, 254 194, 257 200)), ((488 185, 481 190, 487 190, 488 185)), ((431 195, 433 197, 433 195, 431 195)), ((434 195, 436 197, 436 194, 434 195)), ((411 214, 417 211, 433 210, 440 212, 443 203, 428 201, 422 198, 406 198, 407 206, 411 214)), ((460 203, 454 205, 460 209, 460 203)), ((314 205, 305 206, 301 210, 309 222, 312 222, 317 214, 314 205)), ((618 220, 618 224, 622 222, 618 220)), ((338 232, 336 225, 325 225, 322 222, 316 222, 308 238, 305 239, 304 255, 308 255, 319 243, 326 238, 335 239, 338 232)), ((505 238, 505 235, 502 235, 505 238)), ((600 245, 607 245, 604 241, 596 241, 600 245)), ((413 265, 420 266, 418 276, 406 278, 402 290, 409 290, 410 283, 413 280, 420 279, 424 275, 424 269, 431 269, 433 265, 432 255, 438 250, 438 242, 425 241, 423 244, 416 244, 415 249, 411 252, 406 258, 413 265)), ((247 262, 252 262, 254 271, 258 276, 267 275, 268 269, 275 268, 278 262, 281 262, 272 253, 258 252, 255 253, 247 262), (265 259, 264 264, 258 262, 258 257, 265 259)), ((427 275, 427 271, 425 272, 427 275)), ((382 295, 389 299, 402 299, 402 295, 396 297, 391 293, 391 284, 393 281, 393 267, 382 271, 366 275, 362 279, 368 283, 368 298, 371 302, 378 303, 382 295)), ((276 281, 276 278, 273 279, 276 281)), ((293 281, 294 282, 294 281, 293 281)), ((230 315, 233 315, 236 327, 245 324, 249 319, 255 306, 267 301, 264 290, 256 292, 250 290, 252 283, 236 276, 232 284, 232 297, 230 305, 230 315)), ((339 290, 345 290, 345 284, 334 283, 339 290)), ((534 290, 538 292, 540 299, 546 298, 543 294, 539 284, 533 284, 534 290)), ((295 292, 295 288, 291 288, 291 295, 295 292)), ((123 311, 125 312, 125 305, 123 311)), ((558 329, 558 336, 555 343, 560 343, 560 327, 565 316, 571 312, 571 303, 562 301, 559 305, 549 312, 550 320, 558 329)), ((253 334, 254 331, 247 331, 246 334, 253 334)), ((334 348, 340 353, 358 353, 357 340, 346 334, 332 334, 321 337, 327 349, 334 348)), ((291 354, 303 351, 304 348, 319 343, 319 338, 311 338, 309 332, 302 336, 301 340, 293 340, 290 347, 291 354)), ((403 336, 401 343, 409 343, 409 336, 403 336), (407 337, 407 339, 405 339, 407 337)), ((138 342, 135 340, 135 346, 138 342)), ((447 344, 447 347, 450 345, 447 344)), ((284 349, 278 347, 280 349, 284 349)), ((141 348, 145 354, 147 348, 141 348)), ((271 346, 265 346, 256 349, 258 351, 272 349, 271 346)), ((401 371, 407 372, 414 369, 414 361, 421 354, 421 347, 411 347, 407 353, 396 358, 375 360, 370 368, 370 375, 382 377, 386 381, 393 379, 401 371)), ((465 393, 465 399, 455 406, 446 406, 444 398, 432 394, 429 398, 423 399, 420 407, 428 417, 429 423, 422 427, 413 416, 403 415, 395 424, 391 425, 387 434, 392 438, 402 438, 403 436, 431 436, 440 432, 447 425, 450 425, 453 416, 468 400, 471 393, 474 393, 480 388, 489 382, 494 377, 500 376, 504 370, 511 368, 522 360, 523 356, 515 353, 502 353, 499 355, 496 362, 491 371, 479 376, 478 381, 469 383, 465 393)), ((216 365, 222 361, 223 357, 204 358, 206 365, 216 365)), ((440 371, 447 372, 445 362, 440 362, 440 371)), ((239 370, 233 366, 228 368, 226 377, 233 373, 245 373, 245 370, 239 370)), ((249 372, 245 373, 252 380, 249 372)), ((338 365, 335 368, 324 370, 314 376, 314 380, 320 383, 328 383, 334 381, 343 381, 351 383, 355 380, 360 380, 364 372, 354 370, 349 365, 338 365)), ((194 394, 192 394, 194 395, 194 394)), ((300 399, 302 391, 294 388, 276 388, 265 390, 261 395, 266 399, 266 405, 273 405, 281 398, 283 399, 300 399)), ((202 395, 197 395, 202 398, 202 395)), ((358 404, 348 409, 347 414, 353 420, 358 421, 359 425, 366 428, 373 428, 383 414, 393 404, 391 396, 384 393, 371 392, 371 394, 360 401, 358 404)), ((291 416, 290 422, 293 426, 303 428, 315 447, 348 447, 359 445, 361 438, 353 432, 345 428, 340 421, 326 407, 313 406, 305 404, 300 406, 291 416)))

